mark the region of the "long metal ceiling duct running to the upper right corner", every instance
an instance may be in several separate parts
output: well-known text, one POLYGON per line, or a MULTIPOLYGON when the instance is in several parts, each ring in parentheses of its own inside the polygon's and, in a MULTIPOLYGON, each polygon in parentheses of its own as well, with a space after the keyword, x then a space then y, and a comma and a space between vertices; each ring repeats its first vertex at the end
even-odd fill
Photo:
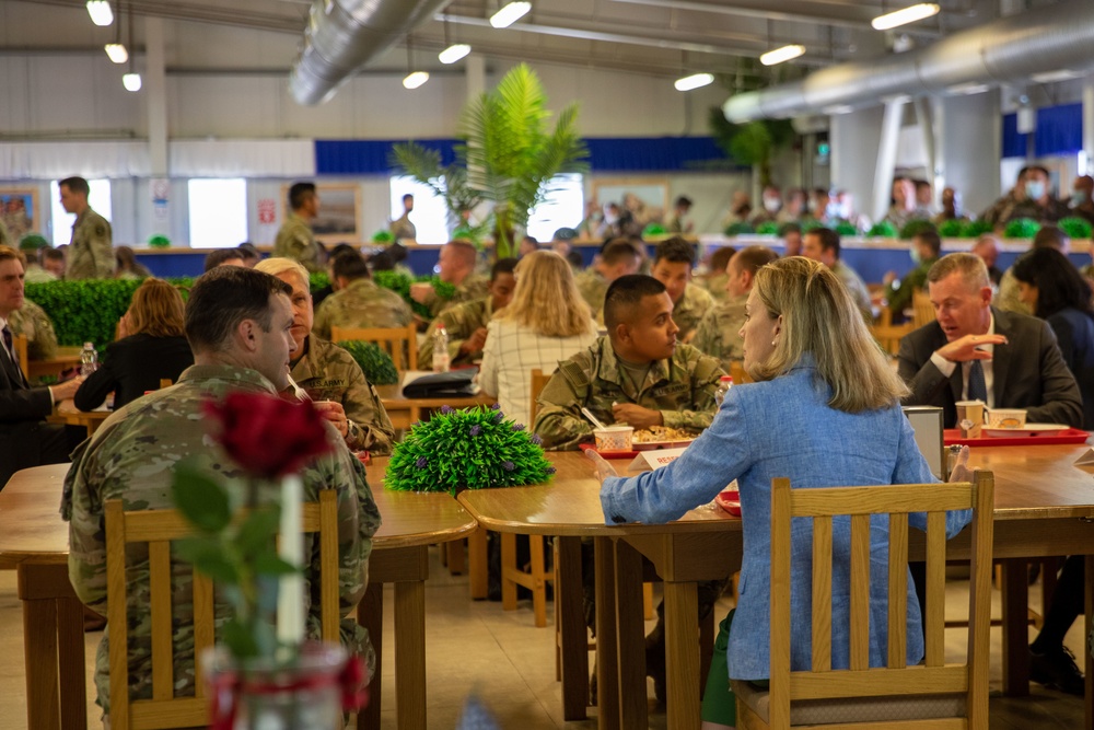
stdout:
POLYGON ((840 63, 794 83, 731 96, 741 123, 877 104, 900 95, 958 93, 963 85, 1017 83, 1038 73, 1094 70, 1094 2, 1068 0, 955 33, 930 46, 840 63), (958 88, 958 89, 955 89, 958 88))

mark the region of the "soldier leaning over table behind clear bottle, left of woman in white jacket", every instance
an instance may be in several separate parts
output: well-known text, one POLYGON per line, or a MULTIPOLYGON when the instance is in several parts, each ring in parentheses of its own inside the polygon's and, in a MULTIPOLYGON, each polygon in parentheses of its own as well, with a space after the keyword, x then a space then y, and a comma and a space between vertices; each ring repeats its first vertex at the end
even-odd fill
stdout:
POLYGON ((489 296, 475 299, 463 304, 451 306, 433 320, 426 331, 426 338, 418 348, 418 363, 428 368, 433 361, 433 333, 439 325, 444 325, 449 335, 449 358, 453 366, 472 364, 482 359, 482 346, 486 344, 486 326, 493 313, 508 306, 513 299, 516 278, 515 258, 502 258, 490 269, 489 296))

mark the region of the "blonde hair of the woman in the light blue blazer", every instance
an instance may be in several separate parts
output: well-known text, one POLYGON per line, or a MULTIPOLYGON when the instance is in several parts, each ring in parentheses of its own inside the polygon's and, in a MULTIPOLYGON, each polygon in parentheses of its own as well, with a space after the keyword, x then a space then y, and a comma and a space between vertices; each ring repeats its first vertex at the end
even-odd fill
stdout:
POLYGON ((782 332, 767 362, 753 367, 753 378, 778 378, 811 355, 817 379, 831 387, 833 408, 874 410, 908 394, 851 296, 827 266, 802 256, 781 258, 760 267, 754 286, 768 314, 782 316, 782 332))

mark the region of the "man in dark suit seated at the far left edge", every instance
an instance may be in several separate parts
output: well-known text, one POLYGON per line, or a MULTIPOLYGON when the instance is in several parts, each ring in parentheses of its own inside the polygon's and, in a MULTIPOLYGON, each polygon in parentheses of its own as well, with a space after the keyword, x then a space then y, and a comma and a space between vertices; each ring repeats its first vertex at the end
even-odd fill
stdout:
POLYGON ((79 443, 79 430, 45 422, 56 402, 71 398, 82 378, 59 385, 31 387, 15 359, 8 317, 23 305, 23 262, 14 248, 0 246, 0 489, 27 466, 59 464, 79 443))

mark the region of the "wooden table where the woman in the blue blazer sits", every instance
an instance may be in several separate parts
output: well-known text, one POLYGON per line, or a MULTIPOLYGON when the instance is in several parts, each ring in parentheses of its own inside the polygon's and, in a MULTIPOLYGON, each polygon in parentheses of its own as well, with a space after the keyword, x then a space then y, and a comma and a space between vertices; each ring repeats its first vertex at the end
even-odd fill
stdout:
MULTIPOLYGON (((1003 569, 1004 692, 1028 693, 1026 558, 1094 553, 1094 468, 1074 465, 1085 445, 975 448, 970 465, 994 474, 994 557, 1003 569)), ((672 730, 699 727, 700 648, 696 583, 725 576, 741 561, 741 522, 712 506, 693 510, 663 525, 606 526, 600 485, 578 453, 548 454, 558 472, 544 485, 468 490, 457 499, 489 530, 519 534, 561 535, 559 572, 575 569, 578 548, 563 548, 582 536, 597 547, 598 727, 643 728, 648 725, 642 656, 641 560, 649 559, 665 581, 667 725, 672 730), (615 538, 615 545, 612 540, 615 538), (608 582, 610 581, 610 582, 608 582), (614 590, 613 590, 614 587, 614 590), (614 622, 614 624, 613 624, 614 622)), ((626 462, 616 462, 622 472, 626 462)), ((954 559, 968 557, 968 535, 947 545, 954 559)), ((579 568, 580 570, 580 568, 579 568)), ((584 651, 581 592, 557 589, 562 651, 584 651), (567 633, 573 636, 567 636, 567 633), (574 647, 580 647, 575 649, 574 647)), ((1092 627, 1094 560, 1086 560, 1086 630, 1092 627)), ((1084 728, 1094 730, 1094 662, 1086 669, 1084 728)), ((571 673, 579 671, 570 667, 571 673)), ((583 717, 578 690, 567 688, 563 658, 563 716, 583 717), (569 695, 568 695, 569 692, 569 695), (580 712, 580 715, 579 715, 580 712)), ((585 670, 587 671, 587 670, 585 670)), ((584 677, 580 677, 584 681, 584 677)))

